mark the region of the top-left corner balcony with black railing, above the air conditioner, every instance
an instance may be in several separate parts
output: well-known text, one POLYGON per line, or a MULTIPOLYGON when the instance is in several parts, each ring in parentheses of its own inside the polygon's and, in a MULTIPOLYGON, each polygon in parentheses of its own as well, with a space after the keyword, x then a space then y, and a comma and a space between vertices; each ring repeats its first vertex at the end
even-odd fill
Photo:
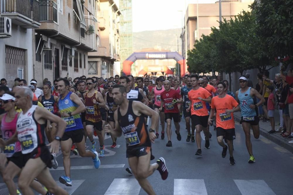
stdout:
POLYGON ((38 0, 1 0, 1 16, 11 18, 12 24, 23 28, 39 28, 38 0))

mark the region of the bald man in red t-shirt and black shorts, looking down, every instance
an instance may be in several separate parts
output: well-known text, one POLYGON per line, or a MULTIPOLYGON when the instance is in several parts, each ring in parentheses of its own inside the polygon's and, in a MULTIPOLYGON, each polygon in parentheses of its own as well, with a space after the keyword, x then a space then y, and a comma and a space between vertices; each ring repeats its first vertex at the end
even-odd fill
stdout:
POLYGON ((166 144, 167 147, 172 147, 172 141, 171 141, 171 121, 172 118, 174 120, 174 125, 176 128, 175 133, 177 134, 177 140, 181 141, 181 135, 180 135, 180 125, 179 125, 179 110, 177 103, 182 103, 183 99, 180 96, 180 94, 174 90, 171 89, 171 82, 166 80, 164 81, 164 88, 165 91, 161 93, 161 107, 159 108, 159 111, 162 111, 163 106, 165 106, 164 113, 165 118, 167 121, 167 137, 168 137, 168 143, 166 144), (178 100, 177 100, 178 99, 178 100))

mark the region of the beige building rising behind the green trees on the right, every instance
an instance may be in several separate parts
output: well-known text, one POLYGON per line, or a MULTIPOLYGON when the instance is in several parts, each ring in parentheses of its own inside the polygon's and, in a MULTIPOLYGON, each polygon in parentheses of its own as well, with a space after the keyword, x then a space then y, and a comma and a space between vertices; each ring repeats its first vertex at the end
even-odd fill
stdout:
MULTIPOLYGON (((243 10, 250 10, 248 5, 251 5, 252 2, 252 0, 223 0, 221 4, 222 18, 229 20, 243 10)), ((217 1, 214 4, 189 4, 184 21, 181 34, 182 53, 187 59, 187 51, 194 48, 195 40, 199 40, 202 34, 209 35, 212 32, 211 27, 219 26, 219 2, 217 1)))

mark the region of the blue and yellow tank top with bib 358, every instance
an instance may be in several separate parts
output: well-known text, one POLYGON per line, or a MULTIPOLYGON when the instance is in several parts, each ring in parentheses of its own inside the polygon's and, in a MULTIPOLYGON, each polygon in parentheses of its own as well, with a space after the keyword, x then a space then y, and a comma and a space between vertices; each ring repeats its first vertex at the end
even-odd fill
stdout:
MULTIPOLYGON (((60 98, 60 100, 58 102, 58 107, 59 107, 59 111, 61 114, 64 112, 66 112, 66 113, 73 112, 76 110, 76 108, 79 107, 76 103, 71 101, 71 99, 70 99, 71 94, 72 94, 72 92, 69 92, 64 99, 60 98)), ((76 115, 72 115, 70 117, 64 117, 62 119, 66 122, 65 132, 79 130, 79 129, 84 128, 82 126, 82 122, 81 122, 81 118, 80 118, 79 113, 76 115)))

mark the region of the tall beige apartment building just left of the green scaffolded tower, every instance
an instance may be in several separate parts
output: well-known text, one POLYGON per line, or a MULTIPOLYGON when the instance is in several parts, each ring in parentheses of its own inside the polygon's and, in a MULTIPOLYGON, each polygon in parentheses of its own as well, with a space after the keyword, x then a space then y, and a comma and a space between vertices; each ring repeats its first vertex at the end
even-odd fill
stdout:
POLYGON ((109 78, 120 73, 121 12, 113 0, 100 0, 98 6, 97 50, 88 53, 88 75, 109 78))

